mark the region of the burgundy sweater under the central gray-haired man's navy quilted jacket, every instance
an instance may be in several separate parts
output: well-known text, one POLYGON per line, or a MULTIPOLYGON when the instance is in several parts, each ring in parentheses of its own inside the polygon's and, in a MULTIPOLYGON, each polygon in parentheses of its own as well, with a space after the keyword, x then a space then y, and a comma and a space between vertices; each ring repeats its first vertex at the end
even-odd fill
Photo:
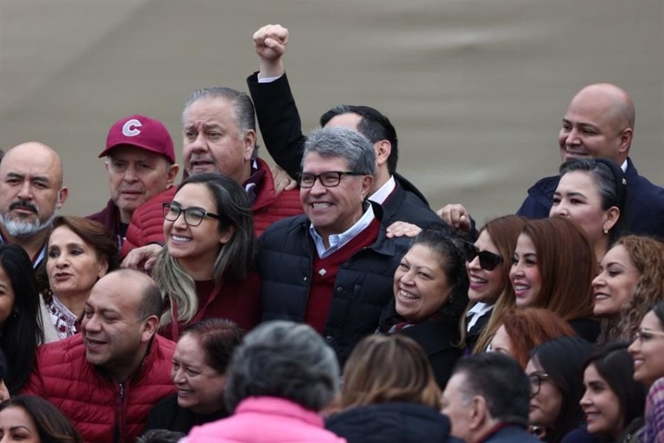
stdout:
POLYGON ((316 329, 319 334, 325 330, 339 266, 350 260, 353 254, 360 249, 374 244, 378 238, 378 230, 380 230, 380 222, 378 219, 374 219, 367 228, 338 251, 325 258, 318 257, 317 253, 313 254, 313 275, 311 276, 309 298, 306 300, 304 323, 316 329), (325 270, 324 275, 320 275, 322 269, 325 270))

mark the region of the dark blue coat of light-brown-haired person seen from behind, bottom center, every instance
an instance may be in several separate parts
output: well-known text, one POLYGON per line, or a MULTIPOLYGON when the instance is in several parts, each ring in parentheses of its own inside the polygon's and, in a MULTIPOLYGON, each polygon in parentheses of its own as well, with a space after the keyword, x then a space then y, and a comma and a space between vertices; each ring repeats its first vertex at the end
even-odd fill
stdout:
POLYGON ((413 403, 380 403, 330 417, 325 427, 348 443, 445 443, 450 420, 438 410, 413 403))

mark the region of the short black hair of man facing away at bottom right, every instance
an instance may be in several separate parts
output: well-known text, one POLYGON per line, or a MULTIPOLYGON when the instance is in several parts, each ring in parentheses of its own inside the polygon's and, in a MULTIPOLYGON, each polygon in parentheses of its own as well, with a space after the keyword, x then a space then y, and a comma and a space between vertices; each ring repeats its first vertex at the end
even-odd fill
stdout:
POLYGON ((499 352, 465 356, 454 374, 465 375, 465 395, 484 397, 491 417, 497 422, 528 424, 531 386, 519 363, 499 352))

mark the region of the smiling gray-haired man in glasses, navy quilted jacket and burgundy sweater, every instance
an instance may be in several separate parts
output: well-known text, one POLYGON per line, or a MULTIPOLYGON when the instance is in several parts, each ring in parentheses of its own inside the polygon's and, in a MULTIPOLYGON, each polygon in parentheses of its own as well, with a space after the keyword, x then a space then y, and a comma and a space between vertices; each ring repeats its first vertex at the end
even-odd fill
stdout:
POLYGON ((387 239, 382 208, 366 200, 374 174, 376 154, 365 136, 315 130, 299 176, 304 215, 277 221, 260 239, 263 319, 311 325, 341 364, 376 331, 409 243, 387 239))

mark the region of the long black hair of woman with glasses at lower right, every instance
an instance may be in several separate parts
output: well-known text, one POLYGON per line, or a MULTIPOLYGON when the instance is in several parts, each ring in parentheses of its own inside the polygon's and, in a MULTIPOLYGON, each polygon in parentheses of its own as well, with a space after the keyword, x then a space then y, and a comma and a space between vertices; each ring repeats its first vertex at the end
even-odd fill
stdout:
POLYGON ((551 377, 562 395, 558 416, 546 432, 547 442, 560 442, 583 419, 579 404, 584 392, 582 368, 592 350, 583 338, 560 337, 542 343, 531 353, 531 360, 551 377))

